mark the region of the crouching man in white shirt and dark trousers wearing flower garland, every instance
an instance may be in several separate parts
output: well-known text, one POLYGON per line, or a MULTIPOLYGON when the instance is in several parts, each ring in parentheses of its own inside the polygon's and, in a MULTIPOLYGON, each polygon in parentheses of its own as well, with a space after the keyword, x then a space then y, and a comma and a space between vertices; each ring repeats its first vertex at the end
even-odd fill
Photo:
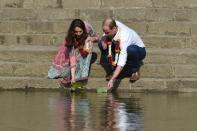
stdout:
POLYGON ((137 81, 140 78, 142 60, 146 56, 145 45, 140 36, 112 18, 105 19, 102 28, 104 35, 99 48, 101 65, 107 73, 106 80, 109 80, 108 90, 112 89, 116 79, 130 76, 131 82, 137 81))

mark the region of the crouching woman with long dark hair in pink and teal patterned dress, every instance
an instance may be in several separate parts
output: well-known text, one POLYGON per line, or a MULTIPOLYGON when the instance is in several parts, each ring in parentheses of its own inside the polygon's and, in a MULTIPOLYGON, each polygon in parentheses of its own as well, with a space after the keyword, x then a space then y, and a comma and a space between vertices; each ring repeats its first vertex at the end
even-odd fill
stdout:
POLYGON ((48 71, 48 77, 59 79, 63 84, 87 80, 93 42, 97 40, 98 37, 88 23, 74 19, 48 71))

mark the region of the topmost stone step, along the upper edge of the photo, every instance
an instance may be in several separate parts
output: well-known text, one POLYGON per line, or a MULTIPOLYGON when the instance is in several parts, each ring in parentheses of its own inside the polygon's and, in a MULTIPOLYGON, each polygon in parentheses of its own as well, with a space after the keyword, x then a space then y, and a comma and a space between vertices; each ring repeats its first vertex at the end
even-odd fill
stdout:
POLYGON ((57 2, 57 1, 48 1, 48 0, 29 0, 29 1, 2 1, 1 2, 1 7, 2 8, 38 8, 38 9, 47 9, 47 8, 135 8, 135 7, 157 7, 157 8, 195 8, 197 2, 193 0, 188 0, 188 1, 180 1, 180 0, 173 0, 170 2, 166 2, 165 0, 124 0, 123 2, 120 2, 118 0, 102 0, 101 1, 89 1, 89 0, 84 0, 83 4, 78 4, 80 0, 76 0, 76 2, 73 2, 71 0, 68 1, 62 1, 62 2, 57 2))

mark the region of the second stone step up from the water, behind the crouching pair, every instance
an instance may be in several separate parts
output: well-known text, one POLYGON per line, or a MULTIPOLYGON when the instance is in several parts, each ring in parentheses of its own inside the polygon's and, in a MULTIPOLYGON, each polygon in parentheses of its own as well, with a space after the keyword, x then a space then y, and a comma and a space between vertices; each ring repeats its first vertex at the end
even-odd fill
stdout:
MULTIPOLYGON (((42 62, 0 62, 0 76, 46 78, 50 66, 51 63, 42 62)), ((197 66, 180 64, 145 64, 141 68, 141 76, 144 78, 197 78, 197 66)), ((105 77, 105 71, 101 65, 97 63, 92 64, 90 77, 105 77)))

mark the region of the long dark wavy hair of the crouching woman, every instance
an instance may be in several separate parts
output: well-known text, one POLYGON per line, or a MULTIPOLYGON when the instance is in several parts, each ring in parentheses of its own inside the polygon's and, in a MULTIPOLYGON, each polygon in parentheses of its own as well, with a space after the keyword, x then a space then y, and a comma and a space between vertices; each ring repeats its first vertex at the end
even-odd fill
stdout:
POLYGON ((84 22, 80 19, 74 19, 68 29, 67 36, 65 37, 67 48, 71 49, 73 46, 75 48, 76 47, 83 48, 87 36, 88 33, 86 31, 84 22), (79 27, 83 30, 83 33, 79 38, 76 37, 74 32, 76 27, 79 27), (78 42, 78 45, 75 45, 76 41, 78 42))

